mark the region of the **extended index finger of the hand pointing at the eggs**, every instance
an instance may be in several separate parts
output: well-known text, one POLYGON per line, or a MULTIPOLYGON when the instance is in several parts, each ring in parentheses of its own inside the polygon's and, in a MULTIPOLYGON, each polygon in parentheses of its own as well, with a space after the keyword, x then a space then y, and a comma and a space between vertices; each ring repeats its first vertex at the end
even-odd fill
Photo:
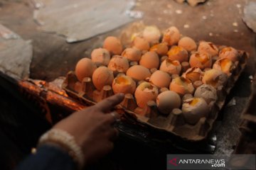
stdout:
POLYGON ((109 98, 105 98, 103 101, 95 104, 95 107, 98 108, 100 111, 110 111, 114 106, 121 103, 124 99, 124 94, 115 94, 109 98))

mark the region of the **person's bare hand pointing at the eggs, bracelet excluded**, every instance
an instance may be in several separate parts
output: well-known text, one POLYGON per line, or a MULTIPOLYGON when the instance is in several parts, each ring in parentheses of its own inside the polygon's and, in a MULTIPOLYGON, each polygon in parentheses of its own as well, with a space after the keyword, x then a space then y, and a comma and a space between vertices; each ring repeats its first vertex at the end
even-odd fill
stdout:
POLYGON ((85 108, 82 111, 73 113, 57 123, 56 129, 65 130, 75 137, 75 141, 82 148, 85 155, 85 162, 95 162, 100 157, 112 150, 114 137, 117 137, 118 131, 112 127, 112 124, 118 118, 110 113, 114 106, 124 99, 124 94, 116 94, 110 98, 85 108))

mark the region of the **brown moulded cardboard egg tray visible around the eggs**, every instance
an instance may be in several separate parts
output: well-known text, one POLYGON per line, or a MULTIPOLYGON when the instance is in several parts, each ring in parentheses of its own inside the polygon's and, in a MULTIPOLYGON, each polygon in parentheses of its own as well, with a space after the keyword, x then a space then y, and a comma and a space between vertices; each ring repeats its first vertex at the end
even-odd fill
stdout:
MULTIPOLYGON (((225 97, 233 88, 243 69, 245 69, 248 55, 243 51, 238 52, 240 60, 235 62, 236 67, 231 76, 228 78, 226 84, 217 88, 218 100, 209 104, 209 114, 207 117, 198 120, 196 125, 186 123, 182 111, 179 109, 170 111, 169 115, 161 114, 156 107, 155 101, 149 101, 146 107, 139 108, 132 94, 126 94, 124 101, 117 108, 121 109, 124 114, 132 115, 129 118, 134 118, 139 123, 149 125, 158 130, 171 132, 171 134, 181 137, 183 140, 190 140, 192 142, 203 140, 213 128, 213 123, 218 117, 220 109, 224 106, 225 97)), ((90 77, 85 77, 80 82, 74 72, 68 72, 63 83, 63 89, 70 97, 89 106, 113 95, 111 86, 104 86, 101 91, 97 91, 90 77)))

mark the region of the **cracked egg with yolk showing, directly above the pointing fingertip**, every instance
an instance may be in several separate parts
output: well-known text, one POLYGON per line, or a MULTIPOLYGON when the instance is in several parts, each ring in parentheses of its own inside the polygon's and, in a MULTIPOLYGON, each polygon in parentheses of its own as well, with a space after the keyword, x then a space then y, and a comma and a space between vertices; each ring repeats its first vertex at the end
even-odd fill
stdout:
POLYGON ((121 75, 114 79, 112 89, 114 94, 134 94, 136 83, 131 77, 121 75))

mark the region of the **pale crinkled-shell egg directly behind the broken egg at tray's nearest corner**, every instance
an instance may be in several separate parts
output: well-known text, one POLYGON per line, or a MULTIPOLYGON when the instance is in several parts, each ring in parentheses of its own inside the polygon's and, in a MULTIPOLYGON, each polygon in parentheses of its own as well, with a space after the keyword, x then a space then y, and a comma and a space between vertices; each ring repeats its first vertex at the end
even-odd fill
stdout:
POLYGON ((201 86, 198 86, 194 96, 196 98, 203 98, 208 104, 210 102, 215 102, 218 99, 216 89, 214 89, 213 86, 210 86, 208 84, 203 84, 201 86))

